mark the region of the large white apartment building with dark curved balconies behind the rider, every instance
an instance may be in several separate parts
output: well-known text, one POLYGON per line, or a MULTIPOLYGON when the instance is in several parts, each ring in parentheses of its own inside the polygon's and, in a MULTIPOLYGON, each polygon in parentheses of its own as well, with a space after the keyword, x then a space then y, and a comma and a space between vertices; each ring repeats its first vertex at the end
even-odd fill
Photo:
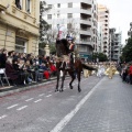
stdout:
POLYGON ((97 43, 97 4, 95 0, 47 0, 52 9, 44 14, 44 20, 52 25, 52 31, 63 29, 75 37, 76 47, 81 58, 90 59, 97 43))

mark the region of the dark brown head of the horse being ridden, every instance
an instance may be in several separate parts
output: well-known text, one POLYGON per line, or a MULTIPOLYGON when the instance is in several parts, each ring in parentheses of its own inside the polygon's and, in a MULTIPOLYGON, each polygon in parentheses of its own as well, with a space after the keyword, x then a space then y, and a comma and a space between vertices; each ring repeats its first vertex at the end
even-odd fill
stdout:
POLYGON ((68 41, 66 38, 56 41, 56 54, 57 56, 67 55, 69 53, 68 41))

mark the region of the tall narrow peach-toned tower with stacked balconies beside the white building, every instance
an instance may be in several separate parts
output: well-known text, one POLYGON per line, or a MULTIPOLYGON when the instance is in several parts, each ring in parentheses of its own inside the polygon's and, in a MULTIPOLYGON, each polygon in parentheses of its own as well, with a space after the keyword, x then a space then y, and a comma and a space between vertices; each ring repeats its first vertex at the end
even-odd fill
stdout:
POLYGON ((102 25, 103 43, 101 52, 109 57, 109 9, 102 4, 98 4, 98 22, 102 25))

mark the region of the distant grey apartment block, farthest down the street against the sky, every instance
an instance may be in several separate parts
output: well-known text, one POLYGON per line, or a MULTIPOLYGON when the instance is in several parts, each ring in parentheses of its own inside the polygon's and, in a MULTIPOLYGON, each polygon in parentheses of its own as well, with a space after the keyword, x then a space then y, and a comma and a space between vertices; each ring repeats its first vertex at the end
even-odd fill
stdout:
POLYGON ((121 56, 121 32, 116 32, 116 29, 109 30, 110 35, 110 61, 119 61, 121 56))

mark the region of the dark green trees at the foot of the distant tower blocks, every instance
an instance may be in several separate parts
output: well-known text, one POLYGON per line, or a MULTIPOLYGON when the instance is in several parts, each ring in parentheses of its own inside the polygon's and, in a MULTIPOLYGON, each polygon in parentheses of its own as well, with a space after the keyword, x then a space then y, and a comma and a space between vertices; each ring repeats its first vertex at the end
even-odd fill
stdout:
POLYGON ((97 58, 99 59, 99 62, 106 62, 106 61, 108 61, 107 55, 103 54, 103 53, 94 53, 92 54, 92 61, 97 62, 97 58))

